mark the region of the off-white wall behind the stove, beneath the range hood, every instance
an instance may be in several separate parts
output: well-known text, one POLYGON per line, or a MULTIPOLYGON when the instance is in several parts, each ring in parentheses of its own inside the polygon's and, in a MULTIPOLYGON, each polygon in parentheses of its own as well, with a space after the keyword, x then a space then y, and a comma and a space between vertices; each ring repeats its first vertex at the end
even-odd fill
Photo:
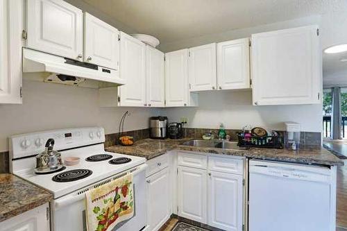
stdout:
POLYGON ((103 126, 106 134, 118 132, 121 115, 130 111, 125 130, 149 127, 157 110, 147 108, 99 108, 98 90, 24 80, 23 104, 0 104, 0 152, 8 151, 8 137, 26 132, 103 126))

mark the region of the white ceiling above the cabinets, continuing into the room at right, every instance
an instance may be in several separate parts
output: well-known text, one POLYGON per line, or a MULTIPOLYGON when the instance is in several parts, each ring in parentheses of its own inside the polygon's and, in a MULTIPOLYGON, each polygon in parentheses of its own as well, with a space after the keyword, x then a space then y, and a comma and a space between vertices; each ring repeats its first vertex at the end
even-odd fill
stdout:
MULTIPOLYGON (((158 37, 162 44, 311 15, 322 19, 322 49, 347 42, 347 0, 67 1, 83 1, 138 33, 158 37)), ((347 53, 342 56, 347 58, 347 53)), ((347 62, 339 62, 342 56, 323 55, 324 77, 347 78, 347 62)))

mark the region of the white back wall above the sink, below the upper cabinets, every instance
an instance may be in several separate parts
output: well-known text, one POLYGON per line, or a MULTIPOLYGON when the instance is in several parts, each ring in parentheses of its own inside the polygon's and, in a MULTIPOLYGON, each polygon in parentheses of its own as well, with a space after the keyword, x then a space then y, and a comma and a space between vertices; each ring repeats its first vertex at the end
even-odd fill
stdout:
POLYGON ((251 91, 217 91, 199 93, 198 108, 167 108, 162 115, 169 121, 187 117, 189 128, 241 129, 247 124, 285 130, 284 121, 301 123, 301 130, 321 132, 322 105, 253 106, 251 91))

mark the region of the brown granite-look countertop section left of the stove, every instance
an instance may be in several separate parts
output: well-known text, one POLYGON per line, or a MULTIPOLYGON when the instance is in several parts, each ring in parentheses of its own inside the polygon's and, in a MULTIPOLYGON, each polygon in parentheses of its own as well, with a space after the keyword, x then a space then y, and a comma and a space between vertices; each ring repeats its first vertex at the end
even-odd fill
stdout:
POLYGON ((48 191, 12 174, 0 174, 0 222, 52 200, 48 191))

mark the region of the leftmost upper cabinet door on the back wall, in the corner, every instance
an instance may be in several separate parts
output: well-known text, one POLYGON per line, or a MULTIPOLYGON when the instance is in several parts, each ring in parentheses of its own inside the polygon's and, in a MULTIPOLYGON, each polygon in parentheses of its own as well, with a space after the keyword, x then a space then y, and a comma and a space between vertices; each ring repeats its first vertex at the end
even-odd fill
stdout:
POLYGON ((165 99, 167 107, 188 105, 188 49, 165 53, 165 99))

